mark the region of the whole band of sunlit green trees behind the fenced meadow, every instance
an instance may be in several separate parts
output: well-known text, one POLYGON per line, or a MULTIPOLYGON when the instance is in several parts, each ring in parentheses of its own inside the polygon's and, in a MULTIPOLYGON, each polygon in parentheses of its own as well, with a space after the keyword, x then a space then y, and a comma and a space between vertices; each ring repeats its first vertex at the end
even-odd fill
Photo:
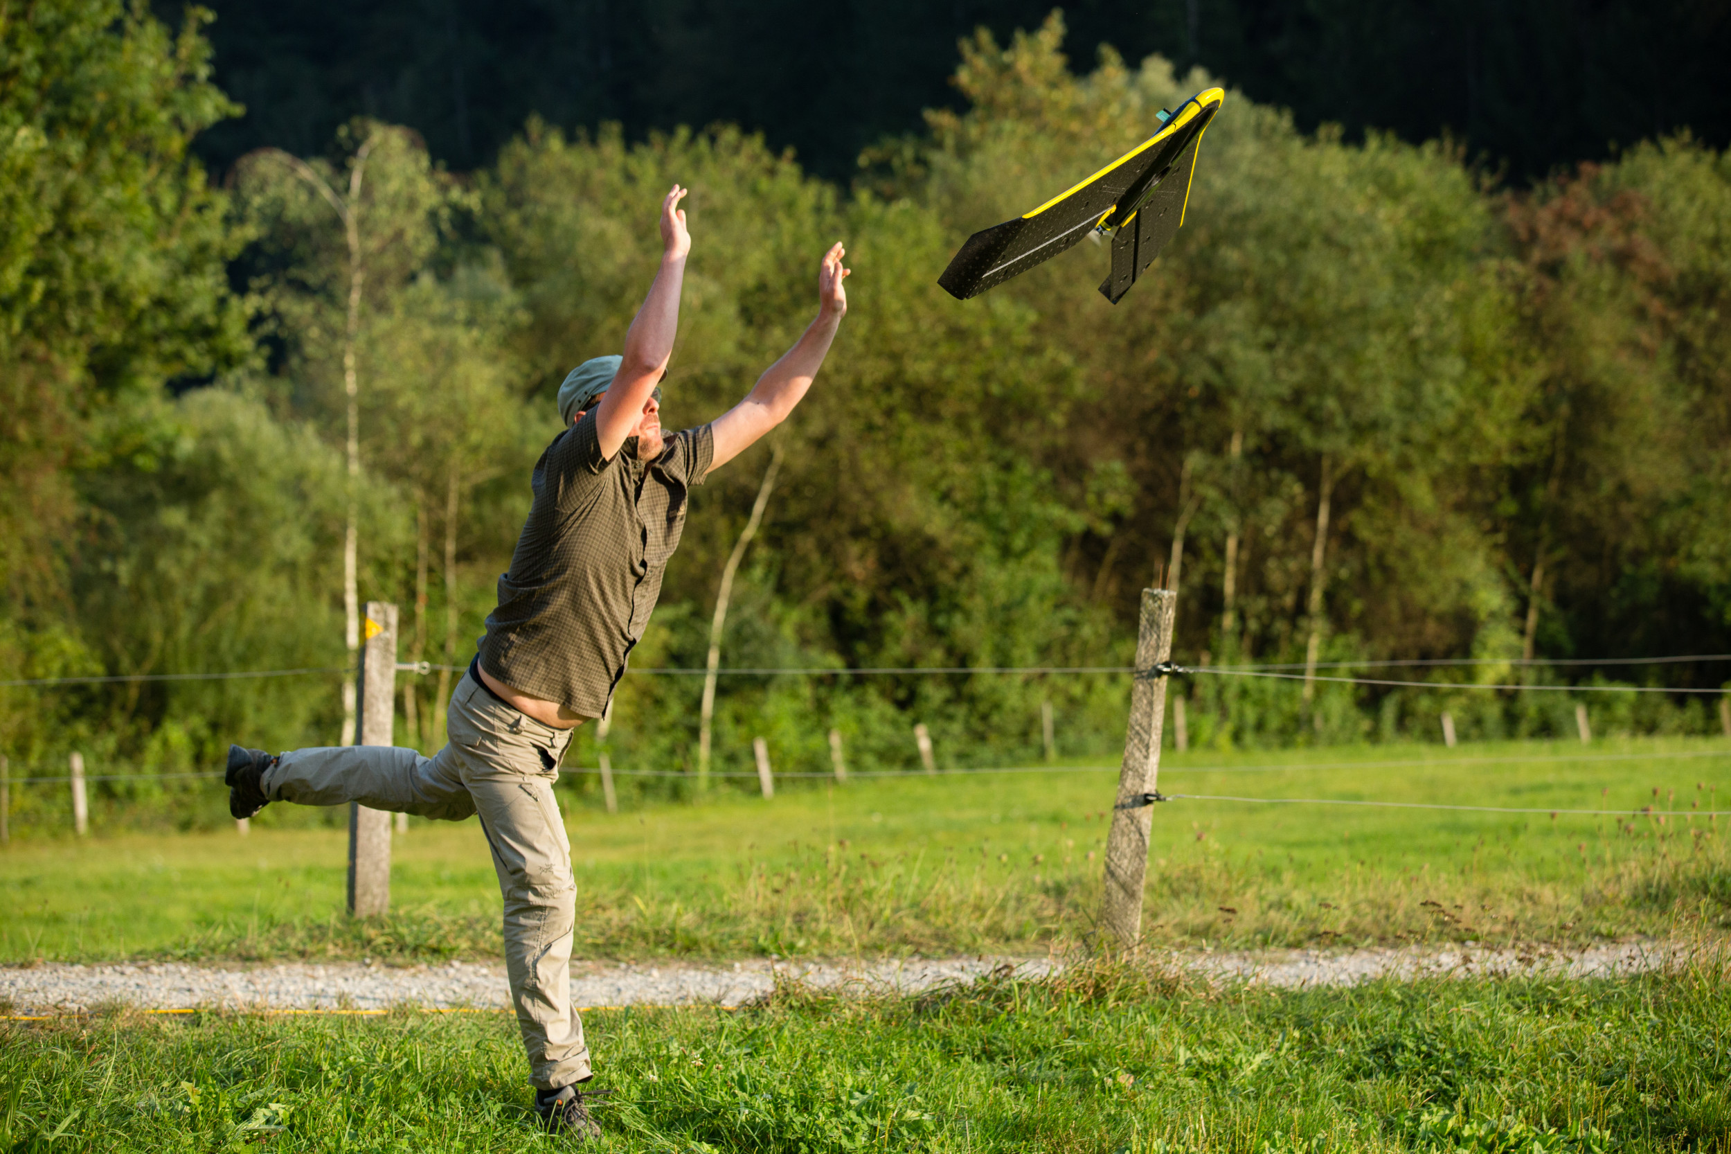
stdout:
MULTIPOLYGON (((639 671, 703 665, 779 454, 724 667, 1123 665, 1137 591, 1163 575, 1184 664, 1724 684, 1724 664, 1610 660, 1731 652, 1731 158, 1684 128, 1511 182, 1447 135, 1305 125, 1229 88, 1186 225, 1122 305, 1094 291, 1094 244, 962 303, 936 276, 969 232, 1215 78, 1068 59, 1051 14, 962 40, 956 106, 869 140, 843 177, 750 123, 533 111, 471 168, 367 116, 208 166, 201 142, 242 107, 206 16, 0 14, 14 778, 83 750, 116 778, 100 804, 142 813, 194 785, 138 775, 206 771, 230 740, 338 742, 346 563, 360 601, 402 606, 402 660, 467 664, 554 390, 620 347, 675 180, 694 250, 672 428, 722 412, 793 341, 836 239, 852 307, 774 444, 696 490, 639 671), (296 669, 325 672, 42 683, 296 669)), ((454 676, 400 676, 400 742, 443 743, 454 676)), ((613 759, 691 771, 699 683, 628 676, 613 759)), ((1016 764, 1040 755, 1042 702, 1063 755, 1110 754, 1127 684, 730 676, 717 768, 750 769, 762 735, 779 768, 826 769, 831 728, 859 768, 911 768, 916 721, 943 766, 1016 764)), ((1184 693, 1191 743, 1220 749, 1435 740, 1442 710, 1464 740, 1563 735, 1575 705, 1201 676, 1184 693)), ((1700 697, 1593 707, 1608 731, 1721 726, 1700 697)), ((36 802, 14 804, 28 825, 36 802)))

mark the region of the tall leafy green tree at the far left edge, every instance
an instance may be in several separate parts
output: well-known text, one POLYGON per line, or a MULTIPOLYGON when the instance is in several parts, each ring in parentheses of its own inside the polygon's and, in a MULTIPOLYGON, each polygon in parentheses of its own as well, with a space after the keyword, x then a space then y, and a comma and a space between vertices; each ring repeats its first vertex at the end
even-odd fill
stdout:
MULTIPOLYGON (((0 665, 88 672, 71 619, 76 475, 109 463, 113 405, 248 357, 223 263, 223 199, 192 137, 235 106, 209 83, 194 9, 178 35, 119 0, 0 5, 0 665)), ((149 405, 142 405, 149 411, 149 405)), ((142 430, 144 438, 156 435, 142 430)), ((71 716, 5 691, 0 745, 71 716)))

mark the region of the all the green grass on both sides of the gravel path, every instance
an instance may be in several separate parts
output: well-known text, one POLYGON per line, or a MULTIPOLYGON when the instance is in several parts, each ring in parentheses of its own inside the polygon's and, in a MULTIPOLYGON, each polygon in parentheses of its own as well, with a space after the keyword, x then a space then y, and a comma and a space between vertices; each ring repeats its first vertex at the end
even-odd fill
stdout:
MULTIPOLYGON (((909 776, 566 816, 587 956, 1044 951, 1084 937, 1111 773, 909 776), (1092 854, 1092 856, 1091 856, 1092 854)), ((585 1015, 613 1151, 1731 1154, 1726 742, 1168 757, 1149 936, 1172 944, 1696 943, 1618 981, 1210 989, 1151 963, 917 998, 798 986, 741 1012, 585 1015), (1412 764, 1421 761, 1423 764, 1412 764)), ((1728 794, 1731 795, 1731 794, 1728 794)), ((268 811, 267 811, 268 814, 268 811)), ((395 844, 344 918, 344 835, 121 835, 0 853, 0 958, 497 958, 474 823, 395 844)), ((1078 955, 1071 955, 1078 956, 1078 955)), ((0 1151, 537 1151, 507 1014, 0 1024, 0 1151)))

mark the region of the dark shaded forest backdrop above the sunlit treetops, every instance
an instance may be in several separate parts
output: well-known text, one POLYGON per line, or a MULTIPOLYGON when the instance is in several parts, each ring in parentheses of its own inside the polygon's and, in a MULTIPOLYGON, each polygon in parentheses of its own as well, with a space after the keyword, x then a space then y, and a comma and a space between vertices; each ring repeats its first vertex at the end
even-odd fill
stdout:
MULTIPOLYGON (((244 120, 203 142, 213 166, 275 144, 308 152, 365 111, 421 132, 457 168, 488 165, 540 113, 550 123, 656 128, 730 121, 831 180, 885 133, 956 107, 956 42, 1030 28, 1051 0, 606 0, 450 3, 222 0, 211 29, 222 85, 244 120)), ((1451 135, 1487 166, 1542 178, 1577 159, 1688 125, 1722 147, 1721 62, 1731 23, 1693 0, 1605 0, 1560 16, 1525 0, 1466 9, 1374 0, 1066 3, 1068 47, 1091 61, 1201 64, 1307 132, 1343 123, 1409 142, 1451 135)))

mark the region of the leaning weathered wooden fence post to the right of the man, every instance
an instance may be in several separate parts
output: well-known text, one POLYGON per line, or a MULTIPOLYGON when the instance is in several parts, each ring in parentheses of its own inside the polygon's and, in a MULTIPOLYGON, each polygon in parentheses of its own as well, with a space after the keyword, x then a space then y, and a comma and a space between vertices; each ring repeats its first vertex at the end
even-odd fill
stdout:
POLYGON ((1130 683, 1130 721, 1118 769, 1118 799, 1106 833, 1106 892, 1099 920, 1122 948, 1136 946, 1142 934, 1142 884, 1148 877, 1148 835, 1153 825, 1160 776, 1160 729, 1167 712, 1167 676, 1151 672, 1172 657, 1172 615, 1179 594, 1142 589, 1142 612, 1136 636, 1136 674, 1130 683))

